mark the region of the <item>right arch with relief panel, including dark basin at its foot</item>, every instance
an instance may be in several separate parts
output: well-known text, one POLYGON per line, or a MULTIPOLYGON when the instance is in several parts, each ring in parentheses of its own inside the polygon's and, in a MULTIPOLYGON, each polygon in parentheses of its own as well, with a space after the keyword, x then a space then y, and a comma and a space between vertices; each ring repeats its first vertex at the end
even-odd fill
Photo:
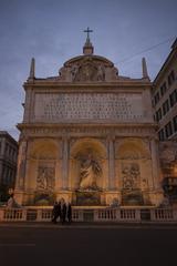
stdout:
POLYGON ((142 139, 125 139, 116 144, 116 183, 123 205, 149 204, 153 187, 152 154, 142 139), (133 202, 134 201, 134 202, 133 202))

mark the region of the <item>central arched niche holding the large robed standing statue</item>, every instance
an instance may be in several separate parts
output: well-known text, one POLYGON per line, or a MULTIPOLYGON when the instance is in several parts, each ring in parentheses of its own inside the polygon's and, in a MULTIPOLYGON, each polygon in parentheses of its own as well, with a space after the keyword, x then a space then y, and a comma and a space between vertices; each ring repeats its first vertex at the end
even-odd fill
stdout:
POLYGON ((86 137, 77 140, 71 146, 69 167, 69 183, 71 190, 83 191, 83 193, 84 192, 91 193, 91 191, 95 191, 95 193, 101 192, 106 187, 106 180, 107 180, 106 146, 100 140, 95 139, 86 137), (84 170, 84 167, 87 168, 84 170), (93 172, 91 173, 91 171, 93 172), (90 177, 88 175, 92 177, 90 177))

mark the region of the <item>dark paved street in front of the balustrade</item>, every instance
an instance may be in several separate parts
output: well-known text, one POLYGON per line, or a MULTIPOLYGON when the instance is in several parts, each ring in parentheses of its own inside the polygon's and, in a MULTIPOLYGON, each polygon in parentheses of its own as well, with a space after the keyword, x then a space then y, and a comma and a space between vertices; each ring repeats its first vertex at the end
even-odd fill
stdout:
POLYGON ((177 265, 177 227, 0 225, 0 265, 177 265))

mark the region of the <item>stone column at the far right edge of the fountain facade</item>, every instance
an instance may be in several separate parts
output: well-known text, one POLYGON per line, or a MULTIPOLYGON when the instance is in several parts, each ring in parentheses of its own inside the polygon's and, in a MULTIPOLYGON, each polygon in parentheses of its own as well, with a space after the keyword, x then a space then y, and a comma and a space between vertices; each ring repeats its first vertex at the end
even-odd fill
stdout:
POLYGON ((157 157, 157 143, 155 139, 150 140, 150 150, 154 188, 159 188, 159 161, 157 157))

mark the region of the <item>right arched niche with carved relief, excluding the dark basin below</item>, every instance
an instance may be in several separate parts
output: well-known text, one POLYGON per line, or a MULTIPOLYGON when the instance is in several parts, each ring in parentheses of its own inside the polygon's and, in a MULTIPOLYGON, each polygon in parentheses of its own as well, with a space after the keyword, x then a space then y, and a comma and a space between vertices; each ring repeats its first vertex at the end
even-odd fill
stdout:
POLYGON ((148 190, 153 186, 152 156, 140 139, 125 139, 116 145, 116 183, 121 190, 148 190))

